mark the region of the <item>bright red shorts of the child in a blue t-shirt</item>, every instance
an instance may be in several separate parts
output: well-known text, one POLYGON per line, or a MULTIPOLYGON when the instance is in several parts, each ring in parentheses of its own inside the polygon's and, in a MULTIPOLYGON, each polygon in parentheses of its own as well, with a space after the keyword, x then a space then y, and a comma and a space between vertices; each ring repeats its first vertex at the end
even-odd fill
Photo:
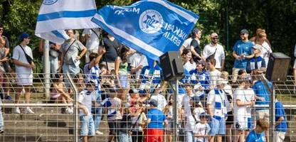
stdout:
POLYGON ((162 129, 147 129, 144 132, 144 141, 164 141, 164 130, 162 129))

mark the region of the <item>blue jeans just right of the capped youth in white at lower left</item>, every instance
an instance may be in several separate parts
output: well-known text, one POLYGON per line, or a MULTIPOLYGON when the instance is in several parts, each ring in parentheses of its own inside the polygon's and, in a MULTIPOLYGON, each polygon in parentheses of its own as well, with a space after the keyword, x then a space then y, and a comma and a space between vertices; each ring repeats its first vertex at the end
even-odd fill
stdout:
MULTIPOLYGON (((98 89, 96 90, 96 95, 97 95, 97 104, 100 105, 102 103, 102 96, 98 89)), ((100 122, 102 119, 102 107, 93 108, 93 109, 95 109, 95 114, 93 114, 93 119, 95 120, 95 131, 98 131, 100 129, 100 122)))

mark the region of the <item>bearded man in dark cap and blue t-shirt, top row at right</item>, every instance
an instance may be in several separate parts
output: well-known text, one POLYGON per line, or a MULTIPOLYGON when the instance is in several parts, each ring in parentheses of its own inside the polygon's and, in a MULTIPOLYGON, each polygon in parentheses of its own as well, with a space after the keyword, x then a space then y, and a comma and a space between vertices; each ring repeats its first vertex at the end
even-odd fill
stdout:
POLYGON ((233 82, 238 78, 238 71, 247 69, 248 59, 253 58, 253 43, 248 40, 248 31, 243 29, 240 31, 240 40, 233 46, 234 67, 232 70, 233 82))

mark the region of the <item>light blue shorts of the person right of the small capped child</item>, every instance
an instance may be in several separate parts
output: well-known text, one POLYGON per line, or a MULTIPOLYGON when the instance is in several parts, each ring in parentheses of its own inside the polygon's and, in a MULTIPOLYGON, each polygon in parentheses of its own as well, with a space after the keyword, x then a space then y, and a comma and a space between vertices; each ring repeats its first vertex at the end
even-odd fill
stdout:
POLYGON ((208 122, 208 125, 211 127, 208 135, 216 136, 216 135, 225 135, 226 133, 226 121, 223 117, 215 117, 211 118, 211 121, 208 122))

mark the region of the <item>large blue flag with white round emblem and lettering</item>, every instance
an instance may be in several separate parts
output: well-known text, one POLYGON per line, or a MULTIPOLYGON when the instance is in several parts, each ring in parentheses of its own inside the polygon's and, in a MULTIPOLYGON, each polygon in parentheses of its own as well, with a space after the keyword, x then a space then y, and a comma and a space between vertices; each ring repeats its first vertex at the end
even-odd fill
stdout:
POLYGON ((94 23, 130 48, 159 60, 179 50, 199 16, 164 0, 143 0, 131 6, 104 6, 94 23))

